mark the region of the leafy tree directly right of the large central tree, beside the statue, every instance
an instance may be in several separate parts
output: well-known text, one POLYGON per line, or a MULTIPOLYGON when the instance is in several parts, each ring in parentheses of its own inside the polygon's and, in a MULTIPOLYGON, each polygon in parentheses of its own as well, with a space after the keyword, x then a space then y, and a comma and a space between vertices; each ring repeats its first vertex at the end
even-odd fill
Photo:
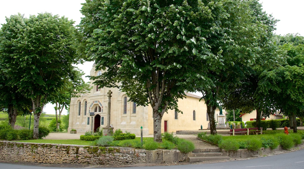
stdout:
POLYGON ((221 98, 241 83, 255 61, 264 56, 263 49, 269 47, 276 20, 261 7, 256 0, 226 1, 223 10, 227 17, 206 38, 210 51, 201 67, 208 65, 208 69, 202 70, 206 76, 194 88, 206 102, 211 134, 216 134, 214 114, 221 98))

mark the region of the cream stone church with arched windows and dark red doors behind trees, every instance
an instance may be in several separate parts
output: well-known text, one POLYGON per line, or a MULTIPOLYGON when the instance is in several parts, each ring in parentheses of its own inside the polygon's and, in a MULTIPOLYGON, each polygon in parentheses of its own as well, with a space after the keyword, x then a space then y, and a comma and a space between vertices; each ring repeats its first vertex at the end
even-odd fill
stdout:
MULTIPOLYGON (((95 71, 95 65, 90 75, 99 75, 101 71, 95 71)), ((140 135, 140 128, 143 127, 143 135, 153 134, 153 115, 152 108, 148 106, 137 106, 136 103, 129 101, 126 93, 118 88, 100 88, 93 85, 90 92, 78 94, 79 97, 71 98, 69 128, 76 129, 78 133, 85 131, 95 131, 98 127, 106 127, 108 111, 108 92, 111 90, 111 117, 110 124, 123 132, 128 131, 140 135), (92 115, 94 112, 94 115, 92 115), (91 116, 90 116, 91 113, 91 116)), ((178 108, 183 112, 177 113, 168 110, 162 118, 162 133, 176 132, 179 130, 199 130, 208 127, 209 119, 204 100, 199 101, 200 97, 187 93, 186 98, 178 100, 178 108)), ((219 114, 216 109, 215 119, 219 114)))

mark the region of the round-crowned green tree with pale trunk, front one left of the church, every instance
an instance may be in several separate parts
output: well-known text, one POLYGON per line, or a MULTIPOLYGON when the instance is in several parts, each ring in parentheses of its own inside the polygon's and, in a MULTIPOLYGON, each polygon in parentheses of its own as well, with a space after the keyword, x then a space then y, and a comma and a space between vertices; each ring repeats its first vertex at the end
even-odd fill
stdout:
POLYGON ((44 104, 75 75, 78 31, 73 21, 50 13, 12 15, 6 22, 0 31, 0 68, 9 85, 31 99, 37 139, 44 104))

